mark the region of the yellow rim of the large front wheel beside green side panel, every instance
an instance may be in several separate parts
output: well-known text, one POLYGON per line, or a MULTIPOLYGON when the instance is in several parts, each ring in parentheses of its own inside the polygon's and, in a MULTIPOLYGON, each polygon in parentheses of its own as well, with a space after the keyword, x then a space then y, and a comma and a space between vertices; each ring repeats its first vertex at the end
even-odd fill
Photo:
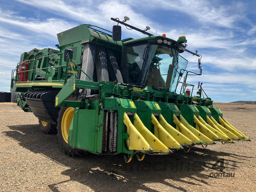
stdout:
POLYGON ((73 119, 73 116, 74 116, 74 108, 68 108, 62 116, 61 133, 62 133, 62 137, 66 143, 68 143, 69 127, 70 127, 71 121, 73 119))

